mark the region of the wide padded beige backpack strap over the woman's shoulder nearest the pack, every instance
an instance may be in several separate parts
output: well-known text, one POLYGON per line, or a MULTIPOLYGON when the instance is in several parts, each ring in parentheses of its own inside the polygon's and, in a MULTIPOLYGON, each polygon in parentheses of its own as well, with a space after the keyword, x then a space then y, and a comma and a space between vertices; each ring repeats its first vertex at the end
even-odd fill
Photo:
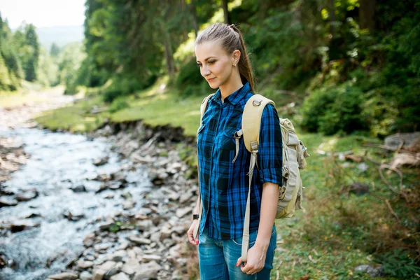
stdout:
POLYGON ((244 113, 242 115, 242 133, 244 135, 244 143, 246 150, 252 153, 251 143, 260 144, 260 125, 262 111, 267 104, 276 104, 261 94, 254 94, 248 102, 246 102, 244 113))

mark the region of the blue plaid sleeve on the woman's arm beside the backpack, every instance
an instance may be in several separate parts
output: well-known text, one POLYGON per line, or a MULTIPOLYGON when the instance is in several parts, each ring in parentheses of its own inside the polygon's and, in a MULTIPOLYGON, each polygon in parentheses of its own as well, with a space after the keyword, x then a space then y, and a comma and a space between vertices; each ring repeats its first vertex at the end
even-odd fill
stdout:
POLYGON ((274 106, 268 104, 262 111, 260 126, 260 145, 258 146, 260 183, 271 182, 281 186, 282 164, 283 151, 279 115, 274 106))

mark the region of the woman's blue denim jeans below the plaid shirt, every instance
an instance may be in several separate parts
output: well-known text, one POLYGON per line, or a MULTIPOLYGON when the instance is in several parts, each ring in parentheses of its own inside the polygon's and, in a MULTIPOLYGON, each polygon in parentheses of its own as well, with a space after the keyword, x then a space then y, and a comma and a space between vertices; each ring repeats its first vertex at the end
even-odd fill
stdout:
MULTIPOLYGON (((249 248, 255 244, 257 232, 249 234, 249 248)), ((200 262, 200 279, 225 279, 242 280, 258 279, 269 280, 269 273, 273 268, 274 250, 276 249, 276 226, 273 226, 272 237, 269 241, 265 267, 256 274, 248 275, 241 271, 241 266, 236 266, 241 256, 242 237, 228 240, 218 240, 207 235, 207 228, 198 242, 198 259, 200 262)))

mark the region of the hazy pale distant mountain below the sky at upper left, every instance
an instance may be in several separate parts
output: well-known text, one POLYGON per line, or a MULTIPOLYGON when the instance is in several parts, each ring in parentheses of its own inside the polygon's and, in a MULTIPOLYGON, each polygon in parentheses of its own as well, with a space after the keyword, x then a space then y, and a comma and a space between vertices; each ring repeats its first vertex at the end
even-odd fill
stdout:
POLYGON ((81 42, 85 38, 83 34, 83 25, 75 26, 55 26, 36 28, 39 42, 41 45, 50 50, 52 43, 56 43, 59 47, 71 42, 81 42))

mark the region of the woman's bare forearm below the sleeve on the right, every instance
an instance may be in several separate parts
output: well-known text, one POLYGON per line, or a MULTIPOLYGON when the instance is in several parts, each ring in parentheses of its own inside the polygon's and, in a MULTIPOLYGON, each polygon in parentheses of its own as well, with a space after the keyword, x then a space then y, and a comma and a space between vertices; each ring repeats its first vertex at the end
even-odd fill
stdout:
POLYGON ((279 202, 279 185, 276 183, 264 183, 262 185, 260 225, 255 245, 267 251, 269 240, 272 235, 274 219, 276 218, 277 203, 279 202))

